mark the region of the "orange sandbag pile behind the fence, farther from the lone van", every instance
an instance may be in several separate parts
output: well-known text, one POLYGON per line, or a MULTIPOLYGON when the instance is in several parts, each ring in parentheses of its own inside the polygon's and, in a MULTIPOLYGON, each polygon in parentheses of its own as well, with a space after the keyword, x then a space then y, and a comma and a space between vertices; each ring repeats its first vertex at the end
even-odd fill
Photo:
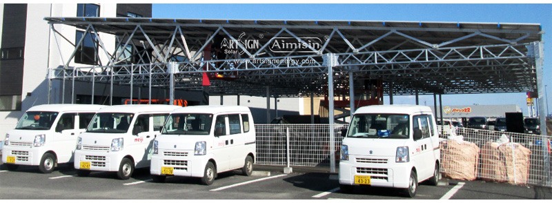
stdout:
POLYGON ((483 180, 526 184, 531 150, 518 143, 487 142, 481 149, 483 180))

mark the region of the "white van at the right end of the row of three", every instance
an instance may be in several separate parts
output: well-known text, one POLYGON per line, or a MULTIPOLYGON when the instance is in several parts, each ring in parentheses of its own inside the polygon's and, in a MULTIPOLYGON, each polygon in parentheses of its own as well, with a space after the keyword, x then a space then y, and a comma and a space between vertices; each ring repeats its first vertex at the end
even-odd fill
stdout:
POLYGON ((213 184, 217 173, 242 168, 253 172, 255 126, 244 106, 189 106, 173 111, 153 142, 150 173, 155 182, 167 175, 201 177, 213 184))

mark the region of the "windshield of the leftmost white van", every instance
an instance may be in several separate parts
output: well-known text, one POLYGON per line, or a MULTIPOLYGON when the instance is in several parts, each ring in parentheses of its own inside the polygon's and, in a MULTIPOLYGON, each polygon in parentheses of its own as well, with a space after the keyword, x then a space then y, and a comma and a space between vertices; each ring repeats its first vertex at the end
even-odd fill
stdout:
POLYGON ((59 113, 48 111, 28 111, 15 126, 18 130, 49 130, 59 113))

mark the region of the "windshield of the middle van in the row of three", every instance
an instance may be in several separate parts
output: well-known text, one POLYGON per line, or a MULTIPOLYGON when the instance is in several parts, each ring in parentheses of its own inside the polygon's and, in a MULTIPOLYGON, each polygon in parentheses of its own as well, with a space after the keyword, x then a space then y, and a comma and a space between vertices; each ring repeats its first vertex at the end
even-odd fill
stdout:
POLYGON ((126 133, 133 113, 97 113, 86 128, 88 133, 126 133))

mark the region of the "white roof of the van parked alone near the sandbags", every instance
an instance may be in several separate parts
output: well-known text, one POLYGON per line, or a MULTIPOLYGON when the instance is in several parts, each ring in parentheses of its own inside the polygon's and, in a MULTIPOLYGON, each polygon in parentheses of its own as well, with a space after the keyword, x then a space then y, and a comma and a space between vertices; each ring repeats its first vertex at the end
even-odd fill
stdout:
POLYGON ((372 105, 363 106, 355 111, 357 113, 397 113, 397 114, 412 114, 412 113, 428 113, 433 114, 429 106, 420 105, 372 105))

